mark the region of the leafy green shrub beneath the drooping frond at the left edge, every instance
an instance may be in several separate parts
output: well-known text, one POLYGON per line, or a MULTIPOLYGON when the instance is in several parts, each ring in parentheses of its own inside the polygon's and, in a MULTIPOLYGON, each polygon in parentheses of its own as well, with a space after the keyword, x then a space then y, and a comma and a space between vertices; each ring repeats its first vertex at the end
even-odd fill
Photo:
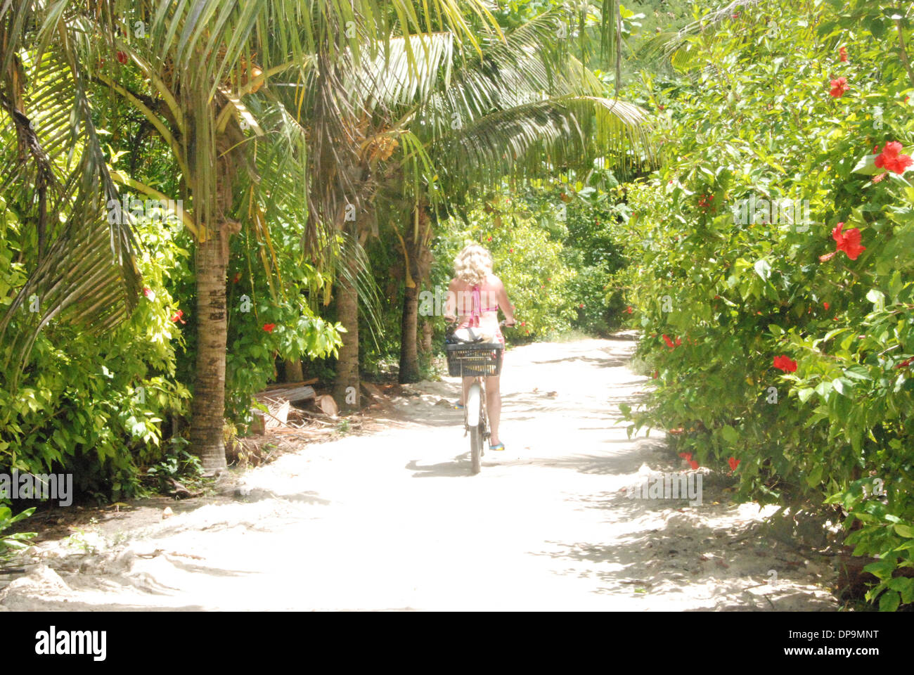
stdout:
MULTIPOLYGON (((0 386, 0 468, 74 473, 81 491, 114 498, 139 489, 137 466, 161 455, 161 423, 186 411, 188 393, 175 380, 171 316, 176 304, 165 291, 168 270, 186 257, 168 230, 141 222, 145 252, 138 260, 147 288, 133 316, 111 333, 93 336, 51 322, 39 333, 24 372, 0 386)), ((0 259, 27 245, 15 215, 0 219, 0 259)), ((0 303, 12 302, 25 282, 19 263, 0 264, 0 303)), ((25 311, 25 310, 24 310, 25 311)), ((9 327, 15 334, 21 322, 9 327)), ((175 339, 176 338, 176 339, 175 339)), ((5 350, 9 349, 9 343, 5 350)), ((0 355, 2 356, 2 355, 0 355)))

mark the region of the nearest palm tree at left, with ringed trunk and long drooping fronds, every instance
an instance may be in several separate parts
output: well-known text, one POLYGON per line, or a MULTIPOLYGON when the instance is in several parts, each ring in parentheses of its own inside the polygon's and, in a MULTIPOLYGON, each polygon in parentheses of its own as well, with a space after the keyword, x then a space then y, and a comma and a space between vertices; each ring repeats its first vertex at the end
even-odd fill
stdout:
MULTIPOLYGON (((18 0, 0 8, 0 65, 17 152, 6 167, 27 193, 37 258, 27 284, 0 319, 35 296, 40 312, 11 340, 7 367, 26 363, 37 331, 69 321, 108 329, 132 311, 142 287, 130 219, 115 182, 159 197, 105 163, 93 123, 92 87, 139 112, 168 147, 185 186, 185 224, 196 238, 197 367, 191 445, 207 471, 226 466, 226 267, 229 238, 246 220, 282 213, 315 253, 335 242, 358 180, 322 173, 345 133, 339 63, 373 58, 389 36, 421 30, 430 8, 473 43, 464 13, 494 26, 484 0, 18 0), (116 57, 116 58, 115 58, 116 57), (134 91, 121 61, 143 82, 134 91), (302 102, 279 95, 310 82, 319 134, 298 122, 302 102), (33 122, 40 118, 41 123, 33 122), (78 162, 67 163, 69 153, 78 162), (113 204, 113 214, 106 205, 113 204), (111 217, 113 216, 113 217, 111 217), (57 223, 62 222, 62 226, 57 223)), ((415 56, 406 55, 410 68, 415 56)))

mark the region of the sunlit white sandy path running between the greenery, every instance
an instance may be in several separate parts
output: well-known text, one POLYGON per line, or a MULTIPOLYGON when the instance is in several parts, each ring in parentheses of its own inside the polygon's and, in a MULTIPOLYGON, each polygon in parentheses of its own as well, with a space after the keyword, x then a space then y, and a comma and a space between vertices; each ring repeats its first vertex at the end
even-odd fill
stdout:
POLYGON ((632 349, 511 350, 507 450, 478 476, 460 413, 441 405, 455 380, 424 382, 397 401, 399 422, 252 470, 243 497, 104 523, 80 535, 89 553, 41 544, 47 564, 0 592, 0 610, 834 609, 828 565, 761 533, 726 480, 706 476, 694 508, 626 498, 643 472, 682 469, 656 434, 630 440, 616 421, 643 386, 632 349))

